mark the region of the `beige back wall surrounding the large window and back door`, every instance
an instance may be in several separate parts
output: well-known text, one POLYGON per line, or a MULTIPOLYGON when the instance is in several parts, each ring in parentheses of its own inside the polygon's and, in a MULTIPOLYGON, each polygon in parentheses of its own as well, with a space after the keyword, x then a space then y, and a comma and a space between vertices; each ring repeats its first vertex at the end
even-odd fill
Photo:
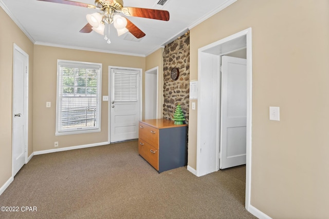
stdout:
POLYGON ((108 95, 108 66, 141 68, 145 70, 145 58, 34 46, 33 81, 33 148, 34 151, 107 142, 108 102, 102 102, 101 132, 55 136, 57 59, 102 64, 102 96, 108 95), (51 108, 46 108, 51 102, 51 108))

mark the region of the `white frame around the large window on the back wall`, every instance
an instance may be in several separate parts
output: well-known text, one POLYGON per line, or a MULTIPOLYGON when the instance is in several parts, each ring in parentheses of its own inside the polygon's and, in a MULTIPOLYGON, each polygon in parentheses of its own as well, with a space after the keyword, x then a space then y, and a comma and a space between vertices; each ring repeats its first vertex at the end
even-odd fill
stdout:
POLYGON ((102 64, 101 63, 90 63, 90 62, 79 62, 79 61, 68 61, 63 59, 57 59, 57 92, 56 92, 56 133, 55 135, 70 135, 70 134, 83 134, 83 133, 93 133, 93 132, 100 132, 101 131, 101 108, 102 108, 102 64), (63 84, 63 81, 60 82, 60 79, 62 79, 61 72, 60 72, 60 65, 61 64, 67 64, 68 66, 86 66, 90 68, 99 68, 99 76, 98 76, 98 90, 97 90, 97 107, 98 107, 98 116, 97 116, 97 122, 98 127, 86 127, 86 128, 77 128, 77 129, 70 129, 70 130, 60 130, 60 88, 61 84, 63 84))

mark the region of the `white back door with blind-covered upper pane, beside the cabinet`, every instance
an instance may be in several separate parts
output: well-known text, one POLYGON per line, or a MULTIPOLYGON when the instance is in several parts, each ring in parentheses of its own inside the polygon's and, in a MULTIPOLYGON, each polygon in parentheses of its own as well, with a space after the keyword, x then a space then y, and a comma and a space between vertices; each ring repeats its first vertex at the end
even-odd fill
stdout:
POLYGON ((111 143, 138 138, 140 71, 111 69, 111 143))

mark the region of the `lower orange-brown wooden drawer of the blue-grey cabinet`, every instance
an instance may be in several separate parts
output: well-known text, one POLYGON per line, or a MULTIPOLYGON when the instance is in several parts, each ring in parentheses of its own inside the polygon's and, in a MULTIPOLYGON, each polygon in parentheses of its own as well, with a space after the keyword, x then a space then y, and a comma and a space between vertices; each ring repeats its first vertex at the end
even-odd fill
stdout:
POLYGON ((156 170, 159 170, 159 150, 152 147, 150 144, 138 139, 138 153, 151 164, 156 170))

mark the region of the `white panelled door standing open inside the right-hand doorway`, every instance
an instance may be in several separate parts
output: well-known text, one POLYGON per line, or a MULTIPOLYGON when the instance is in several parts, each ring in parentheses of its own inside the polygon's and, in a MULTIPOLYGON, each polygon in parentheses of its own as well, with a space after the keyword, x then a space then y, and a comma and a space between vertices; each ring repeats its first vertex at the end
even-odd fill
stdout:
POLYGON ((222 56, 220 169, 246 164, 246 59, 222 56))

